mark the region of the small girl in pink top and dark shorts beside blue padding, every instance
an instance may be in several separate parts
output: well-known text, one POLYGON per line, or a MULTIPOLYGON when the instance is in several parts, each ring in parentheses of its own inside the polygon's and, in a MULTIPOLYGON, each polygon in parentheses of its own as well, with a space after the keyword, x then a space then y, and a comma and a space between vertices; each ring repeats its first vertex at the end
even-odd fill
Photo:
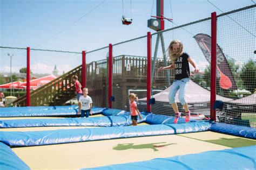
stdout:
POLYGON ((132 125, 137 126, 138 115, 139 115, 139 119, 142 119, 142 115, 140 115, 140 112, 137 108, 137 104, 135 102, 135 100, 138 100, 138 97, 136 94, 131 93, 129 95, 129 99, 130 99, 130 111, 131 111, 132 125))

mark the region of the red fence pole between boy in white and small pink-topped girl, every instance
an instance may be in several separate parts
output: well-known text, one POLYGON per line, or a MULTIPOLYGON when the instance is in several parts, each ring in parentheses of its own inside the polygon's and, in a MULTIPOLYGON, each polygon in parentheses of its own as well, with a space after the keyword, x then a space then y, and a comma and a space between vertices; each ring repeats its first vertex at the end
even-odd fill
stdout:
POLYGON ((109 44, 109 108, 112 108, 112 44, 109 44))

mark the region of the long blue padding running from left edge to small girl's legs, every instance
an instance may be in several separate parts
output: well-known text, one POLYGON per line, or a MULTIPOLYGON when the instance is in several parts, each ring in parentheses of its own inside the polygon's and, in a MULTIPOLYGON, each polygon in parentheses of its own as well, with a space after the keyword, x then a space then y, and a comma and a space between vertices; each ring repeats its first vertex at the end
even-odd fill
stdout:
MULTIPOLYGON (((142 114, 138 123, 145 122, 147 115, 142 114)), ((59 119, 12 119, 0 121, 0 128, 28 128, 42 126, 128 126, 131 116, 103 116, 89 118, 59 118, 59 119)))

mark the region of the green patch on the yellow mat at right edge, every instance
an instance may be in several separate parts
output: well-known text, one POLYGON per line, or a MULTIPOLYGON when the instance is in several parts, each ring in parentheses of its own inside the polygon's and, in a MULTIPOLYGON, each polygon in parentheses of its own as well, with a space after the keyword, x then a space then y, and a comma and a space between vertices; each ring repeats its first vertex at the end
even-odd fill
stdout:
POLYGON ((233 138, 233 139, 220 138, 216 140, 205 140, 205 141, 213 144, 227 146, 227 147, 244 147, 244 146, 256 145, 256 140, 249 140, 244 138, 233 138))

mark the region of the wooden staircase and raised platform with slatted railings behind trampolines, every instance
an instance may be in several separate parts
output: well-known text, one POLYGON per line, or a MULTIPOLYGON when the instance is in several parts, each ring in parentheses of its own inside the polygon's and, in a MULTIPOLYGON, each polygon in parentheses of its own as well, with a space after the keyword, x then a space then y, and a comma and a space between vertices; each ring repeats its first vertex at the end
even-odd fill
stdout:
MULTIPOLYGON (((89 95, 92 97, 93 105, 97 107, 107 106, 108 86, 108 61, 109 59, 93 61, 86 65, 86 87, 89 88, 89 95)), ((156 68, 163 66, 163 60, 156 60, 156 68)), ((147 59, 142 56, 120 55, 113 59, 113 84, 117 86, 122 82, 118 90, 120 100, 127 98, 127 88, 146 89, 147 59), (126 70, 130 64, 131 70, 126 70)), ((82 65, 70 70, 70 72, 57 77, 57 79, 44 86, 31 91, 31 106, 38 105, 62 105, 75 97, 75 87, 72 83, 72 76, 77 75, 80 82, 82 79, 82 65)), ((153 84, 163 86, 166 82, 164 72, 155 72, 153 84), (159 84, 159 85, 158 85, 159 84)), ((166 82, 167 83, 167 82, 166 82)), ((22 96, 12 104, 25 106, 26 96, 22 96)))

